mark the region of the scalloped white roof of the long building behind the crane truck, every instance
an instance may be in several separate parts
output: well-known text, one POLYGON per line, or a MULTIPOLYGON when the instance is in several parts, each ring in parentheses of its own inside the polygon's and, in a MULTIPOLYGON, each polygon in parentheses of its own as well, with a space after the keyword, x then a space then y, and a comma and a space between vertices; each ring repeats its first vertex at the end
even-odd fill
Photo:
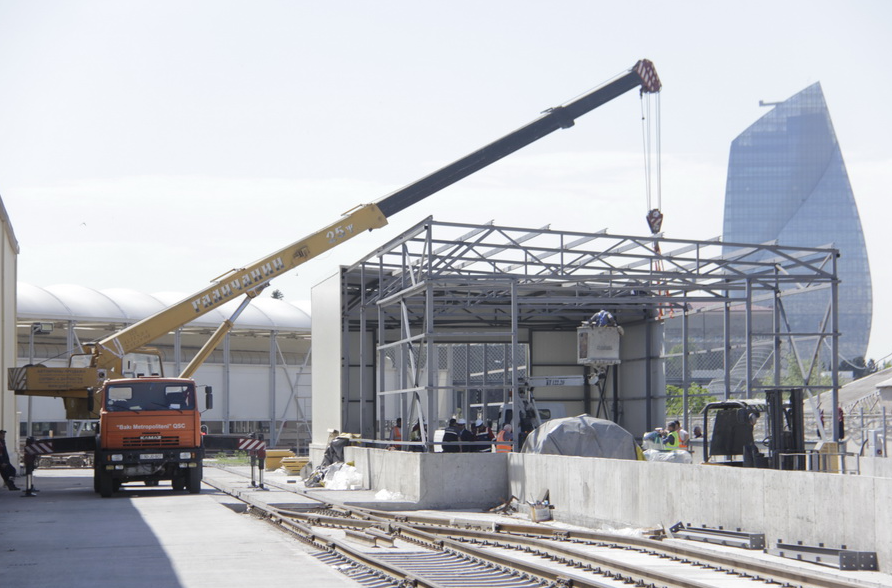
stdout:
MULTIPOLYGON (((19 320, 134 323, 188 297, 183 292, 145 294, 127 288, 94 290, 75 284, 41 288, 18 283, 19 320)), ((190 322, 187 327, 216 328, 238 308, 232 300, 190 322)), ((235 321, 236 328, 310 332, 308 301, 289 302, 271 297, 255 298, 235 321)))

